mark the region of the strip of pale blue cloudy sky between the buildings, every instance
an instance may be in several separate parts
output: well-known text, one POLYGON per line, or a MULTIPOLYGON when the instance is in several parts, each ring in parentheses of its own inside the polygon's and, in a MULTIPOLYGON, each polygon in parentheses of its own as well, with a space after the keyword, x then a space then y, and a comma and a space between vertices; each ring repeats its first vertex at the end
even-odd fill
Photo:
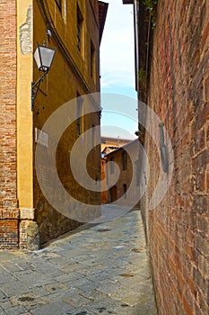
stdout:
POLYGON ((133 4, 123 4, 122 0, 105 2, 109 3, 109 10, 100 45, 101 135, 135 139, 138 128, 133 4), (124 106, 128 111, 125 107, 116 111, 117 104, 111 108, 102 103, 104 93, 123 94, 134 102, 127 98, 124 106))

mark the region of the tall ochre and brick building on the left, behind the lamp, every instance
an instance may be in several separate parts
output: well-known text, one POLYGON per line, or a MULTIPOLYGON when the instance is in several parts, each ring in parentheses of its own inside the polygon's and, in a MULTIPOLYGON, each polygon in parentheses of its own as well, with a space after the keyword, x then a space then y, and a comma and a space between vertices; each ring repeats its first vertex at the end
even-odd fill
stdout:
MULTIPOLYGON (((37 135, 52 113, 73 99, 75 116, 79 118, 58 141, 57 174, 66 192, 75 199, 87 204, 92 200, 100 203, 99 193, 90 190, 83 193, 82 185, 74 180, 69 155, 76 139, 86 130, 100 126, 100 100, 91 102, 93 113, 83 115, 82 96, 100 91, 100 40, 107 9, 108 4, 96 0, 20 0, 0 4, 4 16, 0 35, 4 49, 0 113, 1 248, 36 248, 39 243, 81 224, 48 202, 39 187, 35 167, 40 142, 37 135), (33 61, 38 43, 57 51, 31 111, 31 82, 40 76, 33 61)), ((45 136, 49 143, 52 139, 45 136)), ((94 180, 100 175, 99 146, 91 150, 87 169, 94 180)), ((45 173, 50 171, 46 169, 45 173)), ((58 197, 55 192, 55 198, 58 197)))

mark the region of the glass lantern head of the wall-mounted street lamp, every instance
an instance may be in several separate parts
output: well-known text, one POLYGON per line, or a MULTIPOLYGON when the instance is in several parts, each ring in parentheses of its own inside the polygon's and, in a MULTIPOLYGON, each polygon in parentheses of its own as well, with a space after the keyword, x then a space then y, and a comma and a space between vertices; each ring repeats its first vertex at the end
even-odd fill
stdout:
POLYGON ((56 49, 38 46, 34 52, 34 59, 39 70, 46 72, 51 67, 56 49))

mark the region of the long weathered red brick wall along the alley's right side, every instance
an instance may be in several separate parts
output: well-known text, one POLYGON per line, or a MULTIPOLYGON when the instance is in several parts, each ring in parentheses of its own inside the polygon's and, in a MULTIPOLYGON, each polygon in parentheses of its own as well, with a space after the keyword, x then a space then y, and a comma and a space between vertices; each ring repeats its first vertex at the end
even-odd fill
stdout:
MULTIPOLYGON (((153 279, 160 314, 209 311, 209 2, 159 0, 153 34, 148 105, 168 130, 174 152, 169 191, 146 208, 153 279)), ((153 130, 159 135, 159 129, 153 130)), ((160 161, 148 133, 152 172, 160 161)), ((165 175, 165 177, 168 175, 165 175)))

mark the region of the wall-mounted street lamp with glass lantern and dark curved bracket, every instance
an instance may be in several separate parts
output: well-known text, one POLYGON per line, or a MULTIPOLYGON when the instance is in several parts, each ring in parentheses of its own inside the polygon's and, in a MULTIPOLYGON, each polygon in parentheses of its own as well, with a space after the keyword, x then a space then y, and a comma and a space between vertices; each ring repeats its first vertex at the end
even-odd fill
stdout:
POLYGON ((34 59, 39 71, 42 71, 43 75, 40 76, 35 83, 31 83, 31 111, 34 110, 34 100, 39 92, 39 85, 44 80, 44 77, 48 74, 52 61, 55 57, 55 53, 56 49, 51 49, 40 45, 38 45, 37 49, 34 51, 34 59), (34 89, 35 87, 37 87, 36 90, 34 89))

